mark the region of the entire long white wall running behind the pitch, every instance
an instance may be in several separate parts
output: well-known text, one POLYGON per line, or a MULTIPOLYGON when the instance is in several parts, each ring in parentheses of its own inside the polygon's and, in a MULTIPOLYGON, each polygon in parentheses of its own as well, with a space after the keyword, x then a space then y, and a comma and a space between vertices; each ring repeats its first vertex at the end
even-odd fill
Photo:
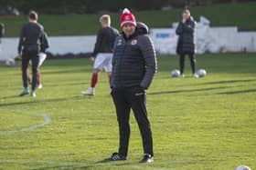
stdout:
MULTIPOLYGON (((176 54, 177 36, 175 28, 151 29, 155 49, 160 54, 176 54)), ((95 35, 88 36, 52 36, 49 37, 48 51, 54 55, 91 53, 96 41, 95 35)), ((15 58, 17 38, 3 38, 0 45, 0 60, 15 58)), ((238 32, 237 27, 209 27, 197 25, 197 54, 205 52, 256 52, 256 32, 238 32)))

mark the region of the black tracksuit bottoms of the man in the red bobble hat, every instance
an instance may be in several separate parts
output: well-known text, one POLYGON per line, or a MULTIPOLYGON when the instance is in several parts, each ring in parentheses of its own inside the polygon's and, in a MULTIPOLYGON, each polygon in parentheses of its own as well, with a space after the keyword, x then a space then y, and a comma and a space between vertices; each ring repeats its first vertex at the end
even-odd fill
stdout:
POLYGON ((113 88, 112 99, 116 108, 117 121, 119 124, 119 151, 127 156, 130 138, 130 112, 133 113, 139 125, 144 154, 154 155, 153 139, 146 111, 146 93, 142 87, 113 88))

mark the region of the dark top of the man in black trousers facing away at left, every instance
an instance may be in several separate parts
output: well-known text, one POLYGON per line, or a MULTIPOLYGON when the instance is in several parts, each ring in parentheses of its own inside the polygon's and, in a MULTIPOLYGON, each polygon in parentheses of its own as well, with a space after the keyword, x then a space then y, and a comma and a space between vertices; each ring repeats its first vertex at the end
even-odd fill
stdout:
POLYGON ((18 44, 18 54, 29 51, 45 52, 48 48, 48 37, 44 27, 38 23, 28 22, 23 25, 18 44))

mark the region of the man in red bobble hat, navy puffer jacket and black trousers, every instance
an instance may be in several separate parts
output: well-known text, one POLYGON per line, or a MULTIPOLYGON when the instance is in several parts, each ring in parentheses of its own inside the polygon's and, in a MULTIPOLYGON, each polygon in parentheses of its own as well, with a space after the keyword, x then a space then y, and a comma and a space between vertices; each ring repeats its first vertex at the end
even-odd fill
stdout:
POLYGON ((106 160, 126 160, 130 137, 130 111, 133 109, 144 145, 144 158, 140 163, 153 162, 153 139, 145 105, 145 90, 156 71, 155 48, 147 35, 147 27, 136 23, 127 9, 121 16, 123 33, 114 44, 112 59, 112 99, 119 124, 119 151, 106 160))

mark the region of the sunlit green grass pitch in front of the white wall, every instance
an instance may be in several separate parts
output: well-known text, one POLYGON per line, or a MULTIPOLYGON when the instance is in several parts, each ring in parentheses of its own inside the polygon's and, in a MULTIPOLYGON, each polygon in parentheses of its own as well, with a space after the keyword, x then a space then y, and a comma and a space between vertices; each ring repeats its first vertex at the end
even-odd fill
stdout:
POLYGON ((87 59, 47 60, 44 88, 37 97, 16 97, 20 68, 0 65, 0 169, 256 169, 256 55, 199 55, 205 78, 171 78, 178 58, 158 58, 148 90, 155 162, 140 165, 142 142, 131 116, 129 160, 97 164, 118 147, 118 125, 107 77, 101 74, 94 97, 81 96, 90 85, 87 59), (34 130, 18 130, 42 124, 34 130), (10 133, 16 131, 16 133, 10 133))

